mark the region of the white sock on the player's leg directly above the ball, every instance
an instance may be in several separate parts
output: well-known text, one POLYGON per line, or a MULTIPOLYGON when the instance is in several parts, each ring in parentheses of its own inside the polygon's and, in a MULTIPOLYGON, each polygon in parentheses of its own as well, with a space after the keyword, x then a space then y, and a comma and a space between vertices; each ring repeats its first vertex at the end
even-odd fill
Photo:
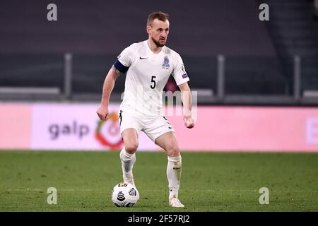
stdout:
POLYGON ((134 184, 134 175, 132 173, 132 169, 136 162, 136 154, 126 153, 125 148, 122 148, 119 156, 122 162, 122 177, 124 182, 134 184))

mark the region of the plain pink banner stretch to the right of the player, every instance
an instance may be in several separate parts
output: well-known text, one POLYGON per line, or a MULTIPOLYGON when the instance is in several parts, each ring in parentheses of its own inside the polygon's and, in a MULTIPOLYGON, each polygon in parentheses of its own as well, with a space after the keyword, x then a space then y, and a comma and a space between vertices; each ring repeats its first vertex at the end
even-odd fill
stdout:
POLYGON ((194 129, 167 118, 182 150, 318 151, 318 108, 198 107, 194 129))

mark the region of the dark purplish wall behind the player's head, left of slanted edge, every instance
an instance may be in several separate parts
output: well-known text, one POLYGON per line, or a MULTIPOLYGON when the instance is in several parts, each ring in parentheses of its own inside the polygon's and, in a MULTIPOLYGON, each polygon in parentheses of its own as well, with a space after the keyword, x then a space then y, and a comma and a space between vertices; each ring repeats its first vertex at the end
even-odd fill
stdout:
POLYGON ((152 11, 170 14, 167 46, 186 56, 273 56, 254 0, 1 1, 0 52, 114 54, 146 40, 152 11), (47 20, 47 4, 58 20, 47 20))

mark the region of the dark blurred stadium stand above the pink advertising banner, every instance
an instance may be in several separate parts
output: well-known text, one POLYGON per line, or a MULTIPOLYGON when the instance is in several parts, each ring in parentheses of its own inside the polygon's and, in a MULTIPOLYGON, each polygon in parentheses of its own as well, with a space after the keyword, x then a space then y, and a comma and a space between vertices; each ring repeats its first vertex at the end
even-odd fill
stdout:
MULTIPOLYGON (((170 14, 167 46, 181 54, 199 104, 318 105, 314 1, 58 0, 56 22, 47 21, 50 3, 1 1, 0 100, 99 101, 117 55, 148 38, 146 17, 160 10, 170 14), (269 21, 259 20, 261 3, 269 21)), ((120 100, 124 78, 111 100, 120 100)))

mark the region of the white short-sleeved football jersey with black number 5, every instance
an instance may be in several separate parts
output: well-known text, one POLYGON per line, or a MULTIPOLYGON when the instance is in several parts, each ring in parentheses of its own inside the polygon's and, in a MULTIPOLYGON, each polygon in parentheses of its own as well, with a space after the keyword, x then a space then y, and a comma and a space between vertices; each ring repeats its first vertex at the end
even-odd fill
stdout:
POLYGON ((117 61, 114 66, 119 71, 128 68, 121 109, 135 116, 152 118, 163 115, 163 88, 170 75, 177 85, 189 81, 177 52, 164 46, 154 54, 147 40, 131 44, 117 58, 122 65, 117 61))

